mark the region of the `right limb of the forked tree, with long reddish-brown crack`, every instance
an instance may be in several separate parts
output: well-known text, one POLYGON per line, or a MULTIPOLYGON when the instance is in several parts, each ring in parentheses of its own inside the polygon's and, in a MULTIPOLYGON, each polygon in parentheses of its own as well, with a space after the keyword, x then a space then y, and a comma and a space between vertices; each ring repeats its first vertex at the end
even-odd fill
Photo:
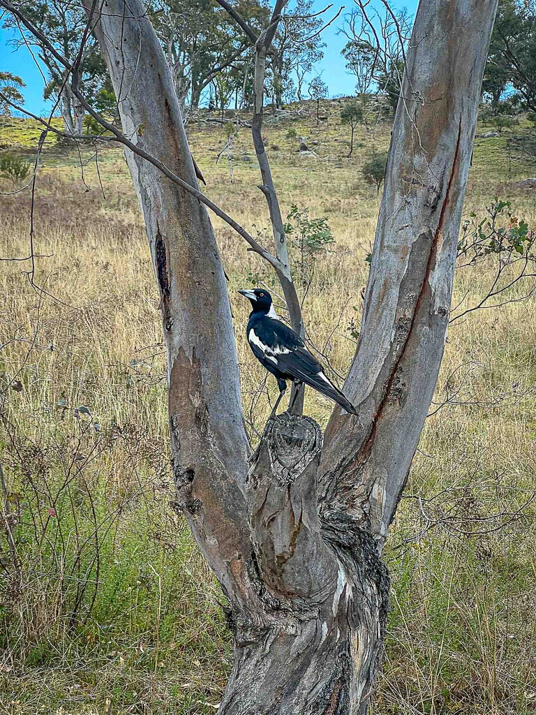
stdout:
POLYGON ((359 345, 319 478, 381 551, 437 383, 496 0, 417 11, 392 131, 359 345))

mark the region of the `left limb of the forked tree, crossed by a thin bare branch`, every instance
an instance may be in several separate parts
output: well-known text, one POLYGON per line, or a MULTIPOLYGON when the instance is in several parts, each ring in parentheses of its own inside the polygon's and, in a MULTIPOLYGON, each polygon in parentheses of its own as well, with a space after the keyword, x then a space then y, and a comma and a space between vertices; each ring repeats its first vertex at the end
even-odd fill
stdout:
MULTIPOLYGON (((91 1, 84 4, 91 11, 91 1)), ((107 0, 94 32, 125 134, 198 187, 171 72, 142 2, 129 0, 126 7, 124 0, 107 0)), ((239 483, 247 474, 249 445, 222 261, 204 206, 133 152, 126 151, 126 160, 161 296, 179 503, 238 607, 237 583, 248 581, 247 516, 239 483)))

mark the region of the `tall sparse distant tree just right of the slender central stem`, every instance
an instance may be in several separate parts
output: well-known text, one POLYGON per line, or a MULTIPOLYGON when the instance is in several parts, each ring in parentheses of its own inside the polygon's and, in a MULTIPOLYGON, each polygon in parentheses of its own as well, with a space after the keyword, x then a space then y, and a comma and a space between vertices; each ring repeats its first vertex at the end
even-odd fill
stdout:
POLYGON ((277 27, 269 57, 276 107, 282 106, 283 95, 293 74, 297 78, 297 98, 303 99, 305 78, 324 56, 322 48, 326 44, 315 35, 322 26, 322 18, 314 13, 313 0, 294 0, 287 6, 277 27))

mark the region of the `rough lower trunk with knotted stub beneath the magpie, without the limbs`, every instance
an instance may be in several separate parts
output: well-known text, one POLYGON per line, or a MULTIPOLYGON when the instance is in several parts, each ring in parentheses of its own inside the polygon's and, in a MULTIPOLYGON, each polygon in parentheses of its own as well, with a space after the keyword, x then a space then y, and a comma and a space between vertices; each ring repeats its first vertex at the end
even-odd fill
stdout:
POLYGON ((247 480, 262 611, 234 621, 224 715, 364 713, 382 649, 389 578, 372 537, 319 518, 322 433, 270 420, 247 480))

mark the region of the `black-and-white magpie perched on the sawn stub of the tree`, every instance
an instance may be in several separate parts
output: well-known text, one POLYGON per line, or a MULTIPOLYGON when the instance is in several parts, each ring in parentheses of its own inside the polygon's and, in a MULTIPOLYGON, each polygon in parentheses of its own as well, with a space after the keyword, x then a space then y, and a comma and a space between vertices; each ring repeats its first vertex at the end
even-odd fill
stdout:
MULTIPOLYGON (((239 290, 239 293, 247 297, 252 304, 252 312, 247 322, 249 347, 263 368, 277 380, 279 397, 270 417, 275 415, 277 405, 287 390, 287 380, 291 380, 296 387, 305 383, 341 405, 348 413, 357 415, 354 405, 328 380, 324 368, 307 350, 302 338, 279 320, 269 292, 255 288, 239 290)), ((292 408, 292 405, 289 405, 289 408, 292 408)))

